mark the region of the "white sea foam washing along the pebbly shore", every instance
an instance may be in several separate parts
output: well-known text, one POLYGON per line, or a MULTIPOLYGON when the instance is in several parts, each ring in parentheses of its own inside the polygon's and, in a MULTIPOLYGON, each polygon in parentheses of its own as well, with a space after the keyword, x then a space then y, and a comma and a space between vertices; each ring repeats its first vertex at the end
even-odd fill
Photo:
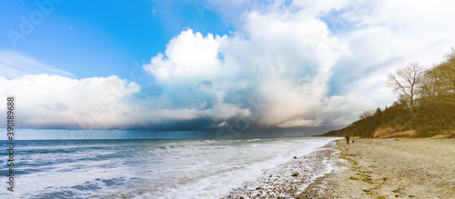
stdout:
MULTIPOLYGON (((161 193, 147 193, 147 196, 164 198, 221 197, 244 182, 255 180, 264 170, 288 162, 295 155, 309 154, 331 140, 333 139, 277 139, 267 140, 257 144, 257 147, 251 144, 238 144, 227 148, 217 148, 216 152, 205 157, 210 164, 198 167, 197 170, 181 171, 188 174, 189 178, 195 176, 193 181, 166 187, 161 190, 161 193)), ((249 141, 247 140, 247 142, 249 141)))

